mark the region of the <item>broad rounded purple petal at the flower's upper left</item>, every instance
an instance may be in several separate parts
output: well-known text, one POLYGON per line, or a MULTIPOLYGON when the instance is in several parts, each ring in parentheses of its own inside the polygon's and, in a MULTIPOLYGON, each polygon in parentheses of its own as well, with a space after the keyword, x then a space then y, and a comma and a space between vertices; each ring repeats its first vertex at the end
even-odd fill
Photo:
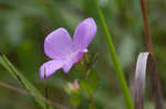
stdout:
POLYGON ((72 48, 71 36, 63 28, 50 33, 44 41, 44 52, 52 59, 64 59, 72 48))

